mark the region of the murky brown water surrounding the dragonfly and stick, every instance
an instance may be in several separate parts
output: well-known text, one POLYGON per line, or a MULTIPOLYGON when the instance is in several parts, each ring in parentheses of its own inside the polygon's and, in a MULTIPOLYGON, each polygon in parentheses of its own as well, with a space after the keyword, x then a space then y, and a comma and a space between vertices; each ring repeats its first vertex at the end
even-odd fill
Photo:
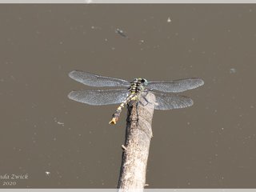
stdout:
POLYGON ((28 174, 13 187, 117 185, 126 114, 110 126, 116 106, 67 98, 86 89, 67 74, 84 70, 203 78, 185 93, 194 106, 155 111, 147 183, 255 187, 255 18, 250 4, 1 5, 0 174, 28 174))

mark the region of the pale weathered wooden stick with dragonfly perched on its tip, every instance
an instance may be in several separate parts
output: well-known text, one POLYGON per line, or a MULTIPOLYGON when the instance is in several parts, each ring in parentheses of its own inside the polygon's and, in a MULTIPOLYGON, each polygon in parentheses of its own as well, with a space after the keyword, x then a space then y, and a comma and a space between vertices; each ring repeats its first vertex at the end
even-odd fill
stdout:
POLYGON ((119 191, 142 191, 146 184, 146 164, 150 150, 154 94, 140 98, 138 105, 128 106, 126 141, 122 146, 122 166, 118 181, 119 191))

